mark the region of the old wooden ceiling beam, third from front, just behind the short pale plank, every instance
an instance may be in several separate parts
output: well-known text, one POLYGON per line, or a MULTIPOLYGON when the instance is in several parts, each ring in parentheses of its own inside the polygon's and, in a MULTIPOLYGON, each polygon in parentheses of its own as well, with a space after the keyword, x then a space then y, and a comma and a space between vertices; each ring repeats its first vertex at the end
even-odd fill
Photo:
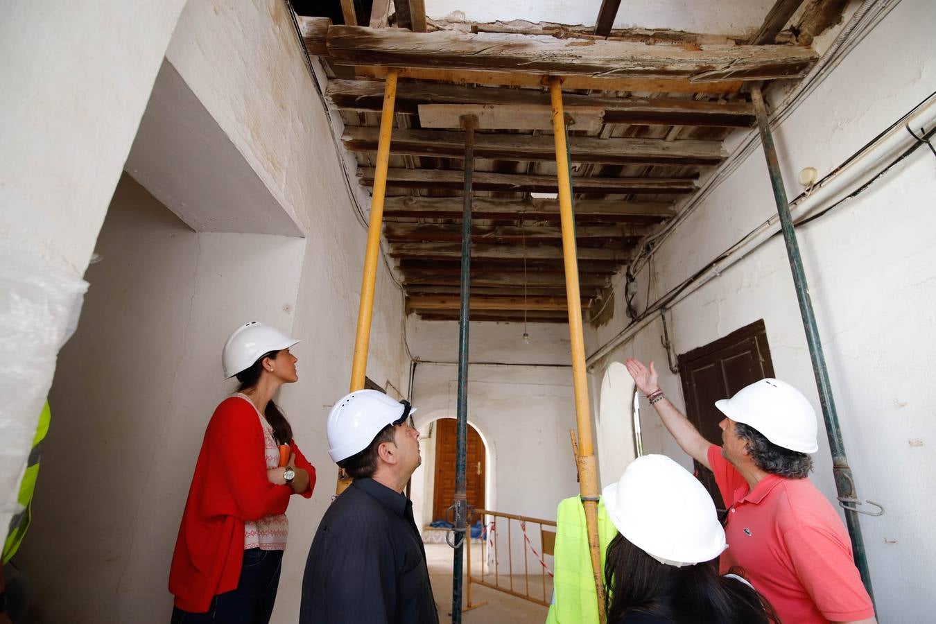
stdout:
MULTIPOLYGON (((345 126, 344 146, 353 152, 376 152, 380 129, 345 126)), ((718 165, 727 155, 721 141, 660 138, 569 137, 572 161, 605 165, 718 165)), ((390 153, 444 158, 464 157, 464 133, 445 130, 395 130, 390 153)), ((551 136, 515 133, 475 135, 475 158, 555 162, 551 136)))

